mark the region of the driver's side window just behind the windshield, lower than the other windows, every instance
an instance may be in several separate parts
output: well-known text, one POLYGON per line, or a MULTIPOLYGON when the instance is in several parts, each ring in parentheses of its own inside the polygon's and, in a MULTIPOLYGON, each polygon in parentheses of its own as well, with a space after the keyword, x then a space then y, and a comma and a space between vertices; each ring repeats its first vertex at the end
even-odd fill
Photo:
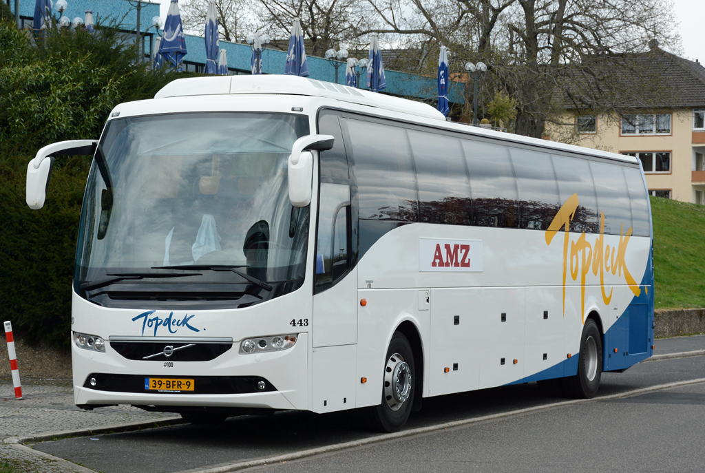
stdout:
POLYGON ((331 288, 350 266, 350 186, 321 183, 319 202, 316 294, 331 288))

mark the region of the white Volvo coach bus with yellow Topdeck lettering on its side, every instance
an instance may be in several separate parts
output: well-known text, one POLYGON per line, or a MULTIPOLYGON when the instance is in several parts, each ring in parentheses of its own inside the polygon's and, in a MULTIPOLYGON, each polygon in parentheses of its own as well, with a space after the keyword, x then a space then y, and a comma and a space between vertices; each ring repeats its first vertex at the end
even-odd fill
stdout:
POLYGON ((589 398, 651 356, 632 156, 283 75, 118 105, 100 140, 38 152, 32 209, 61 154, 94 156, 71 317, 85 409, 364 408, 394 431, 422 398, 529 381, 589 398))

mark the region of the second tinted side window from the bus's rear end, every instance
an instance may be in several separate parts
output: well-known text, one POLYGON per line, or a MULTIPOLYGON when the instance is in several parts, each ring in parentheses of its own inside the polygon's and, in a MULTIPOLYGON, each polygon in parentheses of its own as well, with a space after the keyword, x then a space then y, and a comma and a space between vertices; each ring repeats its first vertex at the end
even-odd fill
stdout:
POLYGON ((591 162, 590 169, 595 181, 597 209, 605 214, 605 233, 625 233, 632 226, 632 211, 623 166, 591 162))

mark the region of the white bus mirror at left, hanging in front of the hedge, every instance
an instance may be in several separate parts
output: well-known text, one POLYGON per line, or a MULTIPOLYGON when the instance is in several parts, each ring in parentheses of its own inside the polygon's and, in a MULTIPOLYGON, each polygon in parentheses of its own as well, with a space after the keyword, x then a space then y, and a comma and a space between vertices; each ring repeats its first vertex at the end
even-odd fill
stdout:
POLYGON ((27 164, 27 205, 32 210, 44 207, 54 156, 93 156, 98 145, 96 140, 70 140, 52 143, 39 149, 35 159, 27 164), (51 156, 49 156, 51 155, 51 156))

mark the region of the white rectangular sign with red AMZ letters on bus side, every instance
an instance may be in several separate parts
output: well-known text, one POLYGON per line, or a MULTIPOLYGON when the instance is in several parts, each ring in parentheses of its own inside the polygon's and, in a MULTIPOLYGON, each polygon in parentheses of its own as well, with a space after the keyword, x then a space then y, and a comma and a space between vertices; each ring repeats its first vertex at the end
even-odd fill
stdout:
POLYGON ((419 238, 419 271, 482 271, 482 240, 419 238))

